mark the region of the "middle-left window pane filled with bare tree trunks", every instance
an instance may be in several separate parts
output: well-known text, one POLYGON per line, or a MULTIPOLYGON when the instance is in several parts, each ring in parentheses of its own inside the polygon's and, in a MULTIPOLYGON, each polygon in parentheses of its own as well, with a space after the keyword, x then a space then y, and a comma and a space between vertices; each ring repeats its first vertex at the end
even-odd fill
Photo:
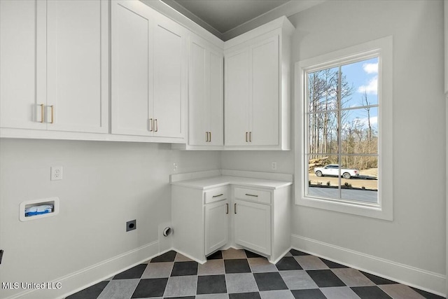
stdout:
POLYGON ((309 114, 308 137, 309 154, 337 153, 337 112, 309 114))

